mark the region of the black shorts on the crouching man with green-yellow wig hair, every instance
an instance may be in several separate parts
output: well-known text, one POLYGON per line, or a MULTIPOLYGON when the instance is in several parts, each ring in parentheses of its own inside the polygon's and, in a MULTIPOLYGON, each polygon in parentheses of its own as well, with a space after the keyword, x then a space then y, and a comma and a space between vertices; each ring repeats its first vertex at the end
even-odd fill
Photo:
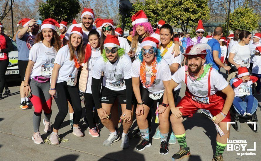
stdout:
POLYGON ((126 89, 125 90, 110 90, 109 88, 102 87, 101 90, 101 103, 113 104, 118 98, 120 104, 126 104, 126 89))

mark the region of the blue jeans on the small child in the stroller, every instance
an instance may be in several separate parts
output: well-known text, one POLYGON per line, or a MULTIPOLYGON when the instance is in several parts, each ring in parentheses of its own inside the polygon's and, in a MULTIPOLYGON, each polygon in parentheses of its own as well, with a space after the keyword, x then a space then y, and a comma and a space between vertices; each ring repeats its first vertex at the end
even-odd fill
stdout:
MULTIPOLYGON (((252 114, 252 108, 254 104, 254 96, 253 95, 248 95, 245 97, 245 100, 243 101, 240 97, 235 97, 233 100, 233 105, 235 106, 236 109, 240 112, 241 115, 244 114, 244 112, 249 112, 252 114), (246 109, 242 106, 242 103, 246 102, 247 107, 246 109)), ((255 111, 254 111, 255 112, 255 111)))

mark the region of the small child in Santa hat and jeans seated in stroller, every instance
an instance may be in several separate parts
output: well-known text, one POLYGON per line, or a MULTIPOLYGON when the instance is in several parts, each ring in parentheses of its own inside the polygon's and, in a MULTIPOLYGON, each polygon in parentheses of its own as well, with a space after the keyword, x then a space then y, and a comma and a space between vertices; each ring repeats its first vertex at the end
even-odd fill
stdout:
POLYGON ((232 87, 235 92, 235 98, 233 101, 234 107, 240 112, 242 116, 251 116, 254 96, 250 94, 251 85, 255 83, 258 78, 255 76, 250 76, 248 69, 246 67, 238 68, 238 78, 235 78, 232 83, 232 87), (246 110, 242 108, 240 102, 247 102, 246 110))

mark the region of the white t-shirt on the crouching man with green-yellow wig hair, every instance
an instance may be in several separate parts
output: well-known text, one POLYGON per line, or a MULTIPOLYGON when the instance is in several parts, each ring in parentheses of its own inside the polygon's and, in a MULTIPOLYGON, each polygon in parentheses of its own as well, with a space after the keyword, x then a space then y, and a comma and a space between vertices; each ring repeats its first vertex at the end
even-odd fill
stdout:
POLYGON ((101 73, 104 72, 103 86, 110 90, 126 89, 124 79, 131 78, 131 60, 128 54, 119 57, 118 60, 111 64, 110 61, 104 62, 103 56, 96 59, 96 64, 93 67, 92 77, 95 79, 101 78, 101 73))

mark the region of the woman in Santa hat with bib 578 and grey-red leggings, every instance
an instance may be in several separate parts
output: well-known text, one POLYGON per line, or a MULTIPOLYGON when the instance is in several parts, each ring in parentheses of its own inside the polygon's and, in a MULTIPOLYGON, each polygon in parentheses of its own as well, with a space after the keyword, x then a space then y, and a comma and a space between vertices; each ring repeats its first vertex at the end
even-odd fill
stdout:
POLYGON ((56 53, 61 45, 60 36, 55 31, 55 26, 60 27, 59 23, 52 18, 43 21, 41 31, 35 38, 35 44, 29 53, 29 62, 23 85, 24 94, 30 98, 35 108, 32 140, 36 144, 44 143, 39 128, 42 111, 45 115, 45 119, 43 119, 44 131, 46 133, 51 132, 52 98, 48 91, 56 53))

